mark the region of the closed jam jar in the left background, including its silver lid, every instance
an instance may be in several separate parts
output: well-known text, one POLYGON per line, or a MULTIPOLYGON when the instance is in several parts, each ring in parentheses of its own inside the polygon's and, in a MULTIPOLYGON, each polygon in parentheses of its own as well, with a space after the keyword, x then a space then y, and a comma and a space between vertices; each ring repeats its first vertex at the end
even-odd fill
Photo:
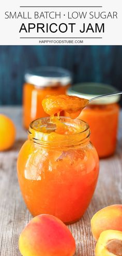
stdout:
POLYGON ((39 67, 25 74, 23 86, 23 125, 28 129, 33 120, 48 116, 41 102, 47 95, 66 94, 71 84, 71 73, 57 67, 39 67))

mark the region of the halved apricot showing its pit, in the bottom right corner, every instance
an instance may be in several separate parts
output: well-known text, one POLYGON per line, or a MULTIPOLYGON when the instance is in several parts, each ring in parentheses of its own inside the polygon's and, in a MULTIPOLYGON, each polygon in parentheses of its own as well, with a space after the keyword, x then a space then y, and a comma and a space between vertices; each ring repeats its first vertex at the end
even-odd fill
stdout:
POLYGON ((95 256, 122 256, 122 232, 105 230, 100 234, 95 256))

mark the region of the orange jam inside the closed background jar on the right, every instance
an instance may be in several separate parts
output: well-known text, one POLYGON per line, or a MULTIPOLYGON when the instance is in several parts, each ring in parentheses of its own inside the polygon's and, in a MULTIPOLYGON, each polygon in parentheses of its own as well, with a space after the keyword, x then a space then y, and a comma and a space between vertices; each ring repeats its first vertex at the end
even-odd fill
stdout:
POLYGON ((99 157, 108 157, 116 149, 119 105, 88 105, 78 118, 89 124, 90 140, 97 149, 99 157))

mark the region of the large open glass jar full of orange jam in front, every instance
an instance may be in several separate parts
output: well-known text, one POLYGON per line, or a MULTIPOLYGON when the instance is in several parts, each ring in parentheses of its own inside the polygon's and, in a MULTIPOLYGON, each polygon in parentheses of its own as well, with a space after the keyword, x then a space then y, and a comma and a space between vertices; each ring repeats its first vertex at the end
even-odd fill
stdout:
POLYGON ((50 117, 30 124, 18 157, 18 179, 33 216, 51 214, 71 223, 83 216, 93 197, 99 158, 88 124, 69 117, 59 121, 64 134, 55 132, 50 117))

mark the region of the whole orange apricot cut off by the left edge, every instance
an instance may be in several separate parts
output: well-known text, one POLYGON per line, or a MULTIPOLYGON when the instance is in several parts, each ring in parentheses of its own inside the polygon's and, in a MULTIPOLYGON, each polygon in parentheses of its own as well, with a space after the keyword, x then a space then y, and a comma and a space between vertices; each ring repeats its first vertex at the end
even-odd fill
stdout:
POLYGON ((16 128, 11 119, 0 114, 0 151, 12 147, 16 137, 16 128))

